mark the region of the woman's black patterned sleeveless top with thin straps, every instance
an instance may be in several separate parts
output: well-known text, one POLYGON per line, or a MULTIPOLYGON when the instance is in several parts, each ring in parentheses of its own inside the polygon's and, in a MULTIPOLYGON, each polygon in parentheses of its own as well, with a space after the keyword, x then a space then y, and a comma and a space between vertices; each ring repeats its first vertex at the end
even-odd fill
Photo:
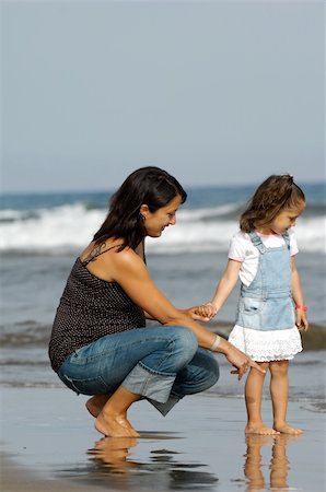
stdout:
POLYGON ((57 309, 49 342, 56 372, 81 347, 105 335, 145 326, 143 311, 117 282, 98 279, 85 268, 92 259, 75 260, 57 309))

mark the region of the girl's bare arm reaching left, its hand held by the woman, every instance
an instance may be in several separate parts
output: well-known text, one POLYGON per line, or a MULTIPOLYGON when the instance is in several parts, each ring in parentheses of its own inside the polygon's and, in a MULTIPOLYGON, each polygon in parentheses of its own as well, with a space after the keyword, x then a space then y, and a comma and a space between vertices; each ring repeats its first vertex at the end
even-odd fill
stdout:
POLYGON ((226 268, 217 286, 213 298, 211 302, 198 306, 195 309, 195 313, 207 317, 212 317, 219 313, 237 282, 240 268, 241 261, 235 261, 229 258, 226 268))

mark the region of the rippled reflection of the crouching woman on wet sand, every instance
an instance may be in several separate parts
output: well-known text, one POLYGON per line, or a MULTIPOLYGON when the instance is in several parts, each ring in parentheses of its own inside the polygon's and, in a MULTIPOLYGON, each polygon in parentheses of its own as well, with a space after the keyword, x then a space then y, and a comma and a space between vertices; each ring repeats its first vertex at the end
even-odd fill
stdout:
MULTIPOLYGON (((175 438, 155 434, 142 435, 150 441, 162 441, 175 438)), ((201 462, 185 462, 177 459, 181 454, 165 446, 151 449, 145 460, 136 459, 136 450, 132 448, 143 440, 133 437, 103 437, 88 450, 97 479, 106 482, 108 490, 118 489, 124 491, 166 491, 166 490, 210 490, 217 484, 218 478, 202 468, 207 465, 201 462)), ((89 468, 90 478, 90 468, 89 468)))

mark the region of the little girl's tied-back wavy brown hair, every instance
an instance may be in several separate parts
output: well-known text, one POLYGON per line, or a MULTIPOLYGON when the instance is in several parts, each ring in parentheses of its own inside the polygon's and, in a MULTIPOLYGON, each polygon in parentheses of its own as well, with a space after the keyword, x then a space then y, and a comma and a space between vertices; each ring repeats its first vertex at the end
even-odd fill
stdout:
POLYGON ((305 202, 304 192, 290 174, 271 175, 256 189, 240 218, 240 229, 251 232, 269 224, 283 209, 305 202))

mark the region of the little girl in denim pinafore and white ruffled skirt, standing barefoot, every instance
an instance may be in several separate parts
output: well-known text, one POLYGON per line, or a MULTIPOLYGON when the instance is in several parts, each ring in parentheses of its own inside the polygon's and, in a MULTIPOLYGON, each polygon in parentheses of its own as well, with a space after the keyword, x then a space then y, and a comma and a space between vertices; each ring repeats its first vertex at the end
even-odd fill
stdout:
POLYGON ((271 429, 263 423, 260 409, 266 373, 251 368, 245 384, 245 432, 251 434, 302 432, 288 424, 286 417, 289 360, 302 351, 298 328, 308 328, 292 229, 304 208, 304 194, 292 176, 267 178, 241 215, 241 231, 232 238, 228 266, 212 301, 197 308, 200 316, 214 316, 240 277, 236 324, 229 341, 269 370, 273 411, 271 429))

